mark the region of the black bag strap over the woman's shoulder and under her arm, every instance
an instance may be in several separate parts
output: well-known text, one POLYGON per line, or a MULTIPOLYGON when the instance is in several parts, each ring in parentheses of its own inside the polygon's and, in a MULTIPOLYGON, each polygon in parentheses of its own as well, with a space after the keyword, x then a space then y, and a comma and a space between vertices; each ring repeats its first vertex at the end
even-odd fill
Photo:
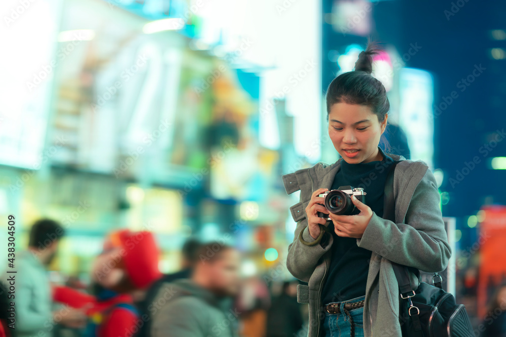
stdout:
MULTIPOLYGON (((395 223, 395 204, 394 204, 394 171, 395 167, 400 161, 395 161, 387 173, 385 180, 385 194, 383 201, 383 218, 395 223)), ((401 295, 413 292, 411 282, 408 277, 407 267, 398 263, 392 262, 395 277, 399 283, 399 290, 401 295)))

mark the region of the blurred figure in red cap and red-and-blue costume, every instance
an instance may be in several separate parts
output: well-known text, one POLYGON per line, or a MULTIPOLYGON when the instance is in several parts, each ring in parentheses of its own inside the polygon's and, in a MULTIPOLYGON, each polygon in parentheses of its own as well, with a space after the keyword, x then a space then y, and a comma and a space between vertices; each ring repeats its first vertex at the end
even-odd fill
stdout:
POLYGON ((92 267, 95 296, 56 287, 54 299, 86 310, 87 337, 131 337, 144 323, 134 305, 134 296, 161 276, 158 255, 151 232, 113 232, 92 267))

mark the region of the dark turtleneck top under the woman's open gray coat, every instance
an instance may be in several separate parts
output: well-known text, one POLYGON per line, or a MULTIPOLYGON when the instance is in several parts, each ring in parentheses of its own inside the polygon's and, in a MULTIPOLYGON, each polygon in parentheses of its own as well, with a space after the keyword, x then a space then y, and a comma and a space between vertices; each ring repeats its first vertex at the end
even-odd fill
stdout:
MULTIPOLYGON (((383 217, 383 196, 388 170, 394 160, 381 148, 383 160, 349 164, 341 161, 341 169, 335 174, 331 189, 350 185, 364 189, 365 204, 379 217, 383 217)), ((341 237, 332 227, 333 243, 328 275, 323 286, 323 304, 351 300, 365 295, 371 251, 357 246, 357 239, 341 237)))

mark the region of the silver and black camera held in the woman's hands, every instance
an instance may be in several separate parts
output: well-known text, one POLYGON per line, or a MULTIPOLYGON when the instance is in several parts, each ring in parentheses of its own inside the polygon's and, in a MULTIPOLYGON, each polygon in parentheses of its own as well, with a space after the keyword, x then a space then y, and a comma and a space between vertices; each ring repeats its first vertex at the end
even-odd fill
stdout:
MULTIPOLYGON (((333 214, 356 215, 360 213, 351 200, 355 196, 360 202, 365 204, 365 195, 363 188, 352 186, 340 186, 338 189, 332 189, 320 194, 318 197, 325 198, 325 208, 333 214)), ((320 218, 330 220, 328 214, 318 212, 320 218)))

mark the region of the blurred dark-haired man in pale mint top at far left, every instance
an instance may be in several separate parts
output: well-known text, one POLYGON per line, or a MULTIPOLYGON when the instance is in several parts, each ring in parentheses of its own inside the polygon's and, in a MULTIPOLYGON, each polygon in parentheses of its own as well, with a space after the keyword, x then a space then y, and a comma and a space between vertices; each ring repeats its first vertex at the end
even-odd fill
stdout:
POLYGON ((82 310, 64 307, 52 311, 52 290, 46 268, 55 257, 64 229, 50 219, 36 221, 28 239, 28 250, 16 256, 17 337, 50 337, 56 324, 82 327, 86 315, 82 310))

